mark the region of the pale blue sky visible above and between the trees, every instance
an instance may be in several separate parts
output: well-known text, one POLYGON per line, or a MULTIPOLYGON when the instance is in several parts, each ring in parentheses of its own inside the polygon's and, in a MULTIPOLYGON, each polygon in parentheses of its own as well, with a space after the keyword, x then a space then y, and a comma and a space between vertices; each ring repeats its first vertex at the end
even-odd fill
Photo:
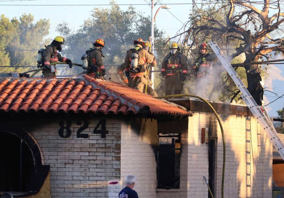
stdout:
MULTIPOLYGON (((6 2, 0 2, 0 14, 4 14, 6 17, 12 19, 13 17, 19 18, 23 13, 31 13, 34 15, 35 21, 39 19, 50 19, 50 33, 46 36, 46 39, 53 39, 58 36, 56 27, 62 22, 67 22, 68 26, 77 30, 84 23, 84 20, 90 17, 91 10, 97 8, 109 8, 106 6, 95 6, 94 4, 109 4, 108 0, 4 0, 6 2), (77 6, 64 6, 64 5, 77 5, 77 6), (78 6, 87 5, 87 6, 78 6), (92 4, 93 6, 89 6, 92 4), (4 6, 7 5, 7 6, 4 6), (8 6, 9 5, 9 6, 8 6), (19 6, 27 5, 27 6, 19 6), (40 6, 35 6, 40 5, 40 6), (44 5, 44 6, 43 6, 44 5), (55 5, 55 6, 51 6, 55 5)), ((191 3, 190 0, 159 0, 163 5, 167 3, 191 3)), ((147 4, 150 0, 116 0, 117 4, 147 4)), ((157 1, 156 1, 157 2, 157 1)), ((129 5, 120 5, 120 8, 126 10, 129 5)), ((162 29, 166 32, 166 36, 175 36, 175 34, 182 28, 183 23, 188 21, 189 12, 191 12, 192 5, 169 5, 171 9, 161 9, 156 18, 156 25, 158 29, 162 29), (168 12, 169 11, 169 12, 168 12), (172 15, 171 13, 174 15, 172 15), (177 19, 176 19, 176 18, 177 19)), ((145 15, 151 15, 151 7, 149 5, 134 5, 137 11, 144 13, 145 15)), ((158 9, 159 5, 156 5, 154 12, 158 9)), ((282 57, 284 58, 284 57, 282 57)), ((264 87, 270 87, 269 89, 278 95, 284 94, 284 64, 283 65, 270 65, 268 69, 270 74, 269 79, 265 80, 264 87)), ((277 96, 275 94, 265 92, 265 104, 275 100, 277 96)), ((268 115, 276 117, 276 111, 282 109, 284 106, 284 97, 278 99, 266 106, 268 115)))

